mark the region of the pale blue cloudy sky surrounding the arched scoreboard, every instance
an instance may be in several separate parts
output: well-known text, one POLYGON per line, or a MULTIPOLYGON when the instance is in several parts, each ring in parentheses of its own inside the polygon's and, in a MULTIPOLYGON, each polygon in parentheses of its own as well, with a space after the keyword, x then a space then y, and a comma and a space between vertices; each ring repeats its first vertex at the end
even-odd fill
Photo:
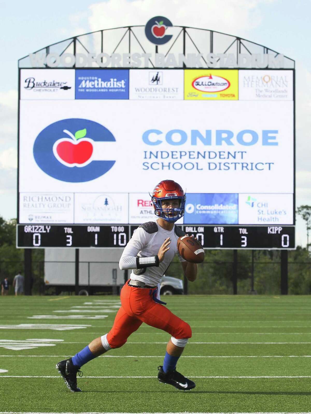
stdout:
MULTIPOLYGON (((17 60, 73 35, 145 24, 164 15, 174 24, 202 27, 263 44, 296 60, 297 205, 311 205, 310 0, 0 1, 0 215, 16 217, 17 60)), ((299 219, 298 243, 306 243, 299 219)))

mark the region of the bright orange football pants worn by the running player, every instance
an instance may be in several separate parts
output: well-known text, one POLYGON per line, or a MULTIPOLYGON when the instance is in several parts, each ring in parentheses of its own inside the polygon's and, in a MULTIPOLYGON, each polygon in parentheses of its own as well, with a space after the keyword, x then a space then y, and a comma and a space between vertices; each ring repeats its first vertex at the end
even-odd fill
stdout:
POLYGON ((124 284, 121 289, 121 308, 115 316, 115 322, 108 332, 107 340, 111 348, 120 348, 127 338, 144 322, 162 329, 176 339, 191 338, 191 327, 160 303, 152 299, 156 290, 132 287, 124 284))

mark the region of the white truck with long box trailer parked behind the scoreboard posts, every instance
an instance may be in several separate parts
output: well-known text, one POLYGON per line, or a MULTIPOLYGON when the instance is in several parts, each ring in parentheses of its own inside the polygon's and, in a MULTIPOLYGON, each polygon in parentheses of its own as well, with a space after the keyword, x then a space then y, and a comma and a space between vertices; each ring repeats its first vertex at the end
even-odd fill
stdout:
MULTIPOLYGON (((120 294, 130 274, 120 270, 120 254, 120 249, 79 249, 79 293, 120 294)), ((74 249, 45 249, 44 283, 45 291, 56 295, 75 291, 74 249)), ((160 286, 161 295, 184 293, 183 281, 176 277, 163 276, 160 286)))

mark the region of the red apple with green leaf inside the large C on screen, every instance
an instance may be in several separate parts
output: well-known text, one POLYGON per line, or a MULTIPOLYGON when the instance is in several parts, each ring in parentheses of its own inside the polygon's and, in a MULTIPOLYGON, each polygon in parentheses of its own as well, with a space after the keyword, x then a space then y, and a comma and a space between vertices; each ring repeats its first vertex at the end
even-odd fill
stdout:
POLYGON ((53 154, 67 167, 84 167, 92 161, 93 140, 86 138, 86 128, 75 132, 63 130, 70 138, 60 138, 53 145, 53 154))

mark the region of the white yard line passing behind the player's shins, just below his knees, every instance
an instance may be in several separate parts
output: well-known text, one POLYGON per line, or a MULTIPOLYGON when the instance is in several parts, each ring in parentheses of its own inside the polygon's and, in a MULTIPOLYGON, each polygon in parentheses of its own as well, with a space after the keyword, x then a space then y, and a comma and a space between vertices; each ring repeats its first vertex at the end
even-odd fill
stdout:
MULTIPOLYGON (((68 355, 0 355, 0 358, 66 358, 68 355)), ((163 358, 163 355, 101 355, 98 358, 163 358)), ((311 358, 311 355, 187 355, 182 358, 311 358)))

